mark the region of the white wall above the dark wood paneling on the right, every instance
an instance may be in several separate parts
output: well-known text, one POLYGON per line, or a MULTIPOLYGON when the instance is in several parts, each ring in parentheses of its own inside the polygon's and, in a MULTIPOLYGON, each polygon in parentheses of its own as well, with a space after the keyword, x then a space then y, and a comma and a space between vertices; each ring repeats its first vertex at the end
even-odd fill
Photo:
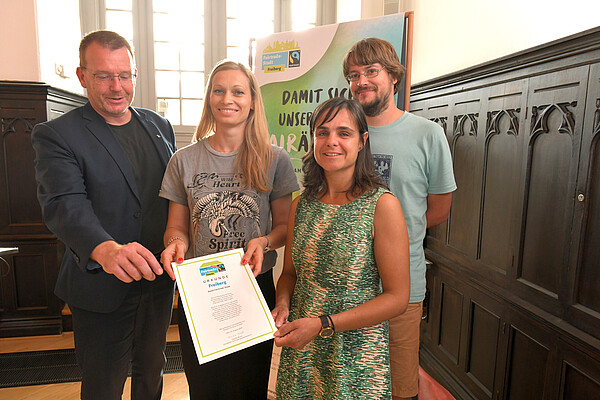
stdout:
POLYGON ((412 84, 600 25, 598 0, 400 0, 399 11, 415 13, 412 84))

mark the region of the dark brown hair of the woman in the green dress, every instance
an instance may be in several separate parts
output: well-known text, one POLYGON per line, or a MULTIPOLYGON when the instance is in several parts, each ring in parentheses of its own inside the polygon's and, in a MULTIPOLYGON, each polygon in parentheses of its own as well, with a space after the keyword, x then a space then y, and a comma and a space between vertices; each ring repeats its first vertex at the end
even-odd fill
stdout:
MULTIPOLYGON (((320 104, 315 109, 310 118, 311 146, 309 151, 302 157, 302 172, 304 173, 303 195, 309 200, 316 199, 319 194, 327 190, 325 171, 315 159, 315 130, 320 124, 333 120, 339 114, 340 110, 347 110, 353 117, 358 127, 359 140, 363 140, 365 133, 369 129, 365 112, 356 100, 350 100, 345 97, 334 97, 320 104)), ((367 136, 365 145, 358 152, 354 167, 354 182, 348 192, 346 192, 346 196, 350 197, 350 195, 353 195, 358 197, 378 187, 386 187, 386 185, 375 172, 373 156, 371 155, 371 145, 367 136)))

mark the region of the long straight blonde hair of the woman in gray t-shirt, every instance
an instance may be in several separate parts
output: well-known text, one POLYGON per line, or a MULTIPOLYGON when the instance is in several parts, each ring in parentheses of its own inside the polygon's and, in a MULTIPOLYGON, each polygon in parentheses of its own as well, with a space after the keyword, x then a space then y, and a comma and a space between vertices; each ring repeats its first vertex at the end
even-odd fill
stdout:
POLYGON ((210 108, 213 78, 218 72, 228 70, 242 71, 246 75, 254 103, 254 109, 250 110, 248 120, 246 121, 244 141, 235 157, 234 170, 245 188, 253 187, 260 192, 267 192, 271 189, 268 172, 273 159, 273 150, 271 148, 267 118, 265 116, 265 108, 262 96, 260 95, 258 81, 252 71, 244 64, 224 60, 213 68, 208 79, 208 84, 206 85, 202 117, 196 128, 192 142, 206 139, 215 132, 217 127, 216 120, 210 108))

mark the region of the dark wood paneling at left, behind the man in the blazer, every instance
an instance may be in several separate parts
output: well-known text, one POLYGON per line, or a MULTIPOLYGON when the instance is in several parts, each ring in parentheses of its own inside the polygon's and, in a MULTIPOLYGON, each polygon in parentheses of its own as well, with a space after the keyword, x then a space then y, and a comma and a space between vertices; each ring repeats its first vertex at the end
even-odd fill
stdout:
POLYGON ((0 82, 0 245, 19 248, 2 266, 0 336, 62 331, 54 284, 63 246, 42 219, 31 131, 85 101, 44 84, 0 82))

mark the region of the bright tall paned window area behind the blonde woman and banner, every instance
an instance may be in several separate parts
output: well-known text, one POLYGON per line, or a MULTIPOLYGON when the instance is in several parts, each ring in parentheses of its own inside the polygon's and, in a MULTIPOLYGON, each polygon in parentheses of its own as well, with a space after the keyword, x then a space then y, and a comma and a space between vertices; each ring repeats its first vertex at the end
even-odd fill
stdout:
MULTIPOLYGON (((133 42, 138 66, 135 104, 157 110, 184 136, 198 124, 204 85, 219 60, 250 64, 251 38, 333 23, 336 7, 358 9, 354 14, 346 10, 343 18, 360 15, 360 0, 80 2, 88 9, 104 3, 97 22, 88 24, 105 25, 133 42)), ((84 31, 97 29, 88 28, 84 31)))

